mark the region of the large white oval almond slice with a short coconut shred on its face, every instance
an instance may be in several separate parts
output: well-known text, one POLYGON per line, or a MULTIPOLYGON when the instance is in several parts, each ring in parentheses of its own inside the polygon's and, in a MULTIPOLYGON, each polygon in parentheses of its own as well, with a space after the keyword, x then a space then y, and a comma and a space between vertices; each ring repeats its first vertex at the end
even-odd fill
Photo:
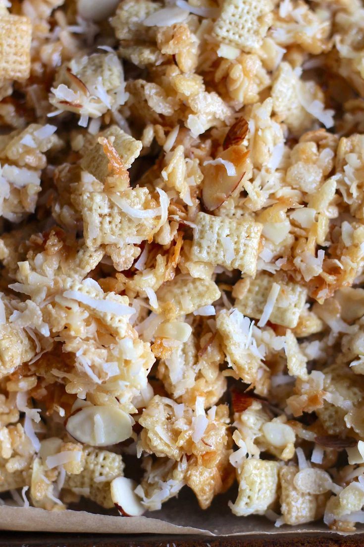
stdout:
POLYGON ((109 446, 132 434, 130 417, 116 406, 85 406, 68 418, 66 429, 80 443, 109 446))

